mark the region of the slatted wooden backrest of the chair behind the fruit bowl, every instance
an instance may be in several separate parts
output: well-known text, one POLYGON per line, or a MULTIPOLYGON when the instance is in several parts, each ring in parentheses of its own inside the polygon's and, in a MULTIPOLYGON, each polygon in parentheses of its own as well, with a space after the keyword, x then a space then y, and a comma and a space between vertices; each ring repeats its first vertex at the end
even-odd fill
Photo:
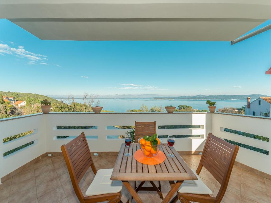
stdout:
POLYGON ((156 122, 136 122, 135 121, 135 142, 145 135, 152 136, 156 133, 156 122))

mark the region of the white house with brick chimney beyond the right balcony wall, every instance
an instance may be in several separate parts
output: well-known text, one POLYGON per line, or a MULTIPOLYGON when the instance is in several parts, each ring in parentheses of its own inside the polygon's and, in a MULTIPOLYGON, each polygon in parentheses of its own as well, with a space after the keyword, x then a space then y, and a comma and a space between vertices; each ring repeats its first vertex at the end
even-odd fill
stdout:
POLYGON ((266 116, 270 117, 271 97, 259 97, 250 102, 250 97, 247 97, 247 105, 245 105, 245 114, 251 116, 266 116))

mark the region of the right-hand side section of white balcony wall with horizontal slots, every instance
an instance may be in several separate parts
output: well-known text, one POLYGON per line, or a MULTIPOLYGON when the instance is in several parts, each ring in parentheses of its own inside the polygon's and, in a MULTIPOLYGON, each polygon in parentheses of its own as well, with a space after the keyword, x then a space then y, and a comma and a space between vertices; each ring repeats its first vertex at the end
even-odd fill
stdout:
MULTIPOLYGON (((228 114, 212 114, 212 133, 220 138, 232 140, 271 152, 271 143, 225 132, 224 128, 238 130, 269 138, 271 141, 271 119, 249 116, 233 116, 228 114)), ((271 174, 270 154, 265 155, 250 149, 240 147, 236 161, 265 173, 271 174)))

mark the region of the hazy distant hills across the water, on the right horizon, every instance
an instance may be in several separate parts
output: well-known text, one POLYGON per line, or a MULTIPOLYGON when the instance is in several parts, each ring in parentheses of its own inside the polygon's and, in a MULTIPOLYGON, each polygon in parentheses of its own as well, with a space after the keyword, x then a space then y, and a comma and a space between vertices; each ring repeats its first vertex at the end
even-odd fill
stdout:
POLYGON ((202 99, 202 100, 211 100, 211 99, 247 99, 250 97, 252 100, 259 97, 268 97, 262 94, 247 94, 247 95, 196 95, 196 96, 179 96, 179 97, 154 97, 153 99, 202 99))

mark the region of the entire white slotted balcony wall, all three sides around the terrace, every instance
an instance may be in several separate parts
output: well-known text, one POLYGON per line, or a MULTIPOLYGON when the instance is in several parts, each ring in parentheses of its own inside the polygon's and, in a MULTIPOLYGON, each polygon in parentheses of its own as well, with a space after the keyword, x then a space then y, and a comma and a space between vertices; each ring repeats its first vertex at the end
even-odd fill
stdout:
MULTIPOLYGON (((107 129, 107 126, 131 126, 135 121, 156 121, 157 134, 161 135, 203 135, 202 137, 176 138, 177 151, 201 151, 206 136, 212 132, 215 136, 271 150, 270 142, 224 132, 224 128, 239 130, 270 138, 271 119, 249 116, 236 116, 218 113, 50 113, 34 116, 15 117, 0 120, 0 139, 34 130, 33 134, 4 143, 0 143, 0 177, 7 175, 45 152, 60 152, 60 146, 71 138, 56 139, 56 136, 78 136, 85 132, 91 151, 118 151, 123 139, 108 139, 107 136, 125 135, 125 129, 107 129), (161 125, 200 125, 191 129, 159 129, 161 125), (97 129, 56 129, 56 126, 97 126, 97 129), (202 127, 203 126, 203 127, 202 127), (34 141, 24 149, 3 156, 9 150, 34 141)), ((162 139, 164 143, 166 138, 162 139)), ((236 161, 271 174, 271 160, 253 150, 240 148, 236 161)))

